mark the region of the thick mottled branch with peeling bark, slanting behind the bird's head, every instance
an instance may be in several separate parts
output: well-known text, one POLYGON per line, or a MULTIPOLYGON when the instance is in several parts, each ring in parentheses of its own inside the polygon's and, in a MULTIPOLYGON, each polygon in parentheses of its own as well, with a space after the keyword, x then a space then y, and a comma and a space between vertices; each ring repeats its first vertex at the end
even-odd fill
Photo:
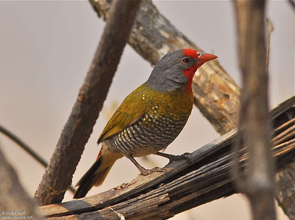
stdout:
MULTIPOLYGON (((90 3, 99 17, 108 18, 112 1, 90 3)), ((202 51, 160 14, 151 1, 142 1, 128 43, 152 65, 176 49, 202 51)), ((197 70, 192 88, 195 105, 217 132, 225 134, 237 126, 240 88, 217 60, 207 62, 197 70)))

